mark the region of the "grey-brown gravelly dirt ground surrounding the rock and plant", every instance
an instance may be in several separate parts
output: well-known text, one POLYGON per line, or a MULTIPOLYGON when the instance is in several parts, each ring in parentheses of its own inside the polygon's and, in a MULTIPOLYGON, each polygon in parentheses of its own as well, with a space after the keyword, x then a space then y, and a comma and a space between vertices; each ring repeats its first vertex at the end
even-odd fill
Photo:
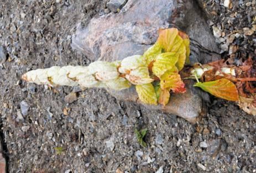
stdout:
MULTIPOLYGON (((213 98, 208 115, 190 124, 119 102, 102 89, 53 89, 20 80, 32 69, 88 65, 85 56, 71 49, 71 35, 76 24, 108 13, 106 2, 0 0, 0 46, 7 50, 0 65, 0 127, 8 171, 256 172, 256 118, 234 103, 213 98), (65 103, 70 92, 77 99, 65 103), (29 109, 22 116, 24 102, 29 109), (146 148, 138 144, 135 128, 148 128, 146 148)), ((209 27, 221 25, 223 16, 234 11, 244 19, 234 19, 243 22, 239 27, 252 27, 255 4, 247 2, 253 1, 224 10, 220 1, 208 1, 208 14, 214 15, 209 27)), ((247 45, 236 41, 238 56, 248 52, 255 57, 255 34, 247 45)))

